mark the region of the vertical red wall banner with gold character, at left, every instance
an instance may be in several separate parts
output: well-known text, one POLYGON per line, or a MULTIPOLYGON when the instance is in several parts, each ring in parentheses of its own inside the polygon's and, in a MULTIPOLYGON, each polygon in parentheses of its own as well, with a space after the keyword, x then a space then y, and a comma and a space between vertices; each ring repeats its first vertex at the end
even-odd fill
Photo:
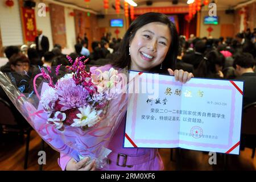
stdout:
POLYGON ((33 42, 36 38, 35 10, 22 7, 22 22, 26 42, 33 42))

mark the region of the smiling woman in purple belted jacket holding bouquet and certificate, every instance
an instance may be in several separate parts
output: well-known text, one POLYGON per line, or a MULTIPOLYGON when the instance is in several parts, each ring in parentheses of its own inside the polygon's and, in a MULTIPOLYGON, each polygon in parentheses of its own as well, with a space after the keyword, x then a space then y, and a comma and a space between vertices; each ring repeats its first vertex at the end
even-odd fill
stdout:
MULTIPOLYGON (((174 68, 178 51, 178 36, 174 23, 168 16, 160 13, 147 13, 139 16, 127 30, 115 66, 135 71, 154 71, 170 73, 176 80, 187 82, 192 73, 174 68)), ((101 69, 109 70, 113 65, 101 69)), ((112 151, 108 155, 110 170, 163 170, 163 162, 155 148, 123 148, 123 131, 126 117, 122 117, 114 136, 108 144, 112 151)), ((62 169, 94 170, 94 160, 88 164, 88 158, 75 162, 67 155, 59 160, 62 169)))

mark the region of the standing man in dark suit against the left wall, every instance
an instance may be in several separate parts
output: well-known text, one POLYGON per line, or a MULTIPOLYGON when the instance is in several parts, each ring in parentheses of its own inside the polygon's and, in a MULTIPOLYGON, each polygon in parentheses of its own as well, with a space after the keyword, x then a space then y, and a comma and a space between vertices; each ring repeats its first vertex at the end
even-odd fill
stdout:
POLYGON ((38 36, 35 39, 36 51, 38 51, 39 56, 42 58, 44 53, 49 51, 49 40, 47 36, 44 36, 42 30, 38 30, 38 36))

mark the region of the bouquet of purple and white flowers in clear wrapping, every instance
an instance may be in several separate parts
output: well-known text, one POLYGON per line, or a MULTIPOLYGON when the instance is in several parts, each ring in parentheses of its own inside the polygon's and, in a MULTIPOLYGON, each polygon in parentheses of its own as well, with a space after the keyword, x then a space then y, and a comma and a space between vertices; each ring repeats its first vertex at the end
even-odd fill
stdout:
POLYGON ((126 75, 120 69, 104 67, 87 72, 86 61, 81 61, 84 57, 68 59, 69 72, 59 79, 61 65, 55 76, 50 68, 40 68, 31 78, 32 93, 20 93, 10 73, 0 73, 0 84, 53 149, 77 161, 89 156, 100 169, 111 152, 106 146, 126 113, 126 75))

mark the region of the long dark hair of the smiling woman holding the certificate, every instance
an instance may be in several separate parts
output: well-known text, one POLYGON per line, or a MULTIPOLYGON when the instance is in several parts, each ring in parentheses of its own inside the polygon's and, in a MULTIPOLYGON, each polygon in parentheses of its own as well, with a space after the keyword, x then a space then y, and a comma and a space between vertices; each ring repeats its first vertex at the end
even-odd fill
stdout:
POLYGON ((118 50, 119 56, 117 60, 115 60, 115 63, 114 63, 115 67, 130 68, 131 57, 129 55, 129 44, 131 40, 133 40, 139 28, 143 27, 145 24, 152 23, 152 22, 161 22, 166 24, 170 28, 171 45, 162 63, 163 69, 160 69, 160 65, 158 65, 155 68, 153 68, 151 71, 158 72, 158 73, 167 73, 167 68, 172 68, 172 69, 175 68, 177 52, 179 48, 179 36, 177 34, 175 24, 170 21, 168 16, 161 13, 146 13, 141 16, 138 16, 138 18, 131 23, 130 27, 126 31, 125 36, 123 37, 121 46, 119 47, 119 50, 118 50))

